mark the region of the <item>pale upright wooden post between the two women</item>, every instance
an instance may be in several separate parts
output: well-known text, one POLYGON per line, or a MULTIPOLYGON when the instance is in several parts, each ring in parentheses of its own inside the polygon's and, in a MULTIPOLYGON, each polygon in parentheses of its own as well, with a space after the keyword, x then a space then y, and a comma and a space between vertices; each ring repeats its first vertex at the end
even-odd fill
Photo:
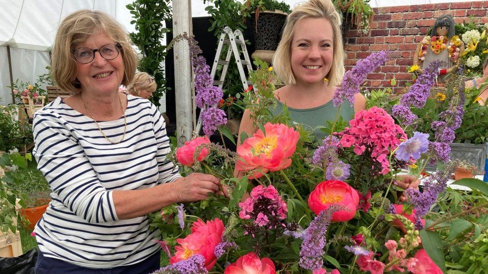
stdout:
MULTIPOLYGON (((183 32, 190 35, 191 10, 190 0, 173 1, 173 34, 183 32)), ((174 96, 176 100, 176 139, 178 146, 191 139, 192 92, 191 92, 191 66, 189 46, 186 40, 178 41, 174 48, 174 96)))

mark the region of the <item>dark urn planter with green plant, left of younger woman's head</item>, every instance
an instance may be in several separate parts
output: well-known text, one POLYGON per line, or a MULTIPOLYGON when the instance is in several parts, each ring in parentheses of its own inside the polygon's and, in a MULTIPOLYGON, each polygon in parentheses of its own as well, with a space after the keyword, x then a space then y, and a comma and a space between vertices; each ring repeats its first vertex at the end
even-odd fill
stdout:
POLYGON ((250 17, 254 28, 255 51, 252 58, 271 62, 274 50, 281 39, 286 15, 291 12, 290 6, 277 0, 246 0, 242 5, 242 17, 250 17))

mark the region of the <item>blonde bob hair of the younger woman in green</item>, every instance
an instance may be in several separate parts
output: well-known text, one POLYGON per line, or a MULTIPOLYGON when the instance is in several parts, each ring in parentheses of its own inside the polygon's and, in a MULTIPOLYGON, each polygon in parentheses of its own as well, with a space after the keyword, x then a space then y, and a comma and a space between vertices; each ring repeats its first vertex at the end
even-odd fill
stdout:
POLYGON ((344 75, 344 49, 340 30, 341 18, 331 0, 309 0, 296 6, 286 17, 283 34, 272 60, 273 69, 278 79, 285 84, 295 83, 295 77, 291 70, 291 41, 296 23, 303 18, 325 18, 332 25, 334 53, 332 66, 325 77, 328 79, 329 85, 338 85, 344 75))

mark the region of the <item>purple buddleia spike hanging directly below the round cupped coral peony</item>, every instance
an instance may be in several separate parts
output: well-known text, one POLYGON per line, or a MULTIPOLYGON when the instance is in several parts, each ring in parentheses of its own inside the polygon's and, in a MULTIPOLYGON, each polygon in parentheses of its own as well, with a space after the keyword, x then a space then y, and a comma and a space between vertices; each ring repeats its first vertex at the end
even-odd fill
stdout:
POLYGON ((332 214, 337 211, 336 206, 322 210, 310 226, 305 230, 305 236, 300 249, 300 267, 307 270, 317 270, 323 265, 322 255, 325 246, 325 233, 332 219, 332 214))

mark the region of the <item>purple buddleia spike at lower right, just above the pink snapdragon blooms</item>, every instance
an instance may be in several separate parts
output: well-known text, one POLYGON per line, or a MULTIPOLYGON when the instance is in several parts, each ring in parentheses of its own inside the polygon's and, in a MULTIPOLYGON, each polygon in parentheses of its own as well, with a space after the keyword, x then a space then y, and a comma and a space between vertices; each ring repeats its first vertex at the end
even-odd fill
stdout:
POLYGON ((420 218, 428 213, 430 207, 437 200, 437 196, 447 187, 447 180, 451 177, 454 170, 453 165, 444 166, 443 170, 438 170, 435 174, 428 177, 424 182, 423 192, 413 188, 405 190, 409 203, 415 208, 415 229, 423 228, 420 218))

